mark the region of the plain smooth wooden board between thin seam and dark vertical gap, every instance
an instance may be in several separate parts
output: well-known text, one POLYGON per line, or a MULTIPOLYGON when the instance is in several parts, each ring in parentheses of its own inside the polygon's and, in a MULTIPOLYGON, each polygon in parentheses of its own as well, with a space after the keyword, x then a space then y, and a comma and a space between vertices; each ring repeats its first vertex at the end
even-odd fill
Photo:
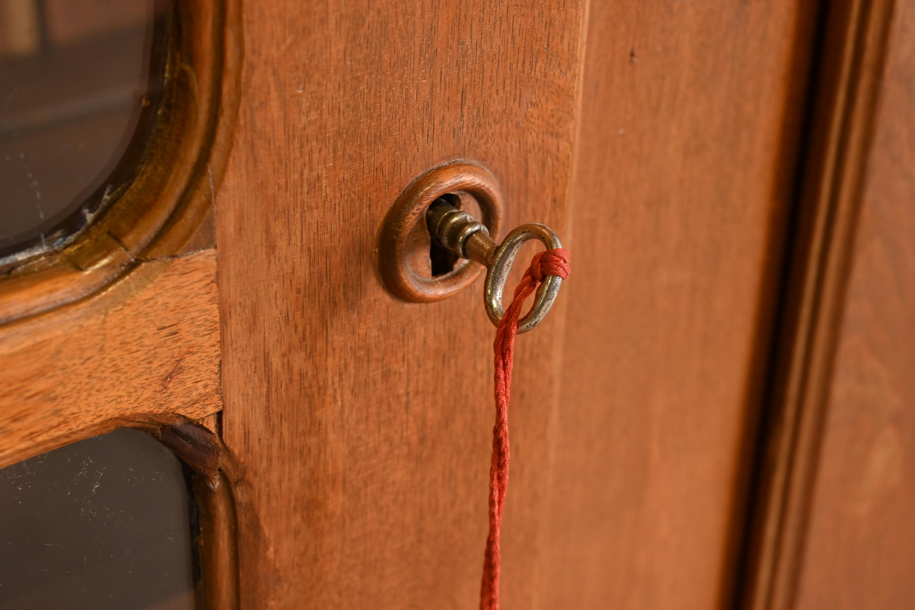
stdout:
POLYGON ((592 3, 538 608, 726 607, 815 3, 592 3))

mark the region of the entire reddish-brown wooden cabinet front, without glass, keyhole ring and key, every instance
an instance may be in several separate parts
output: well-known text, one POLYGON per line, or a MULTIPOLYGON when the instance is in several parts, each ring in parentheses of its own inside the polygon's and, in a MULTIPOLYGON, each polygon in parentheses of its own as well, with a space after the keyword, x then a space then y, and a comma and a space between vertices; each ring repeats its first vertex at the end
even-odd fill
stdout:
POLYGON ((482 282, 379 271, 468 162, 572 253, 515 350, 503 607, 908 607, 912 9, 832 4, 177 6, 147 181, 0 278, 0 466, 178 430, 211 607, 474 607, 482 282))

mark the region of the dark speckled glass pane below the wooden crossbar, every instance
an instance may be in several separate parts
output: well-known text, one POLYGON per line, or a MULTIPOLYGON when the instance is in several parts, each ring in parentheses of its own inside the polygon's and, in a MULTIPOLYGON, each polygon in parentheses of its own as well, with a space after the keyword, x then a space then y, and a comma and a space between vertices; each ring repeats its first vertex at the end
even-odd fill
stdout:
POLYGON ((0 608, 192 610, 188 487, 122 428, 0 470, 0 608))

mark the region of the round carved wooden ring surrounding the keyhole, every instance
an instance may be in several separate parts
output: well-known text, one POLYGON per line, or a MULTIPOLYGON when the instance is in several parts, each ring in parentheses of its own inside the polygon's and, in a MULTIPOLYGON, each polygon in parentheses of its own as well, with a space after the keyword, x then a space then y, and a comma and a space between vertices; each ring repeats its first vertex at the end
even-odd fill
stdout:
POLYGON ((428 303, 446 299, 486 271, 477 262, 458 259, 445 272, 439 269, 434 273, 425 210, 441 197, 479 219, 492 239, 499 241, 502 199, 496 177, 485 167, 468 161, 428 170, 394 201, 384 217, 378 242, 382 281, 404 301, 428 303))

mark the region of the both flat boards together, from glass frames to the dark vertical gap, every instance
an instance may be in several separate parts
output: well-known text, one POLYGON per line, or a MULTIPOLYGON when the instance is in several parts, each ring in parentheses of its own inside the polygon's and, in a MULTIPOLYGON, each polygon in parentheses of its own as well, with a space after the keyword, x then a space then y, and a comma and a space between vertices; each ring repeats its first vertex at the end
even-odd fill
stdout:
POLYGON ((572 251, 519 338, 505 607, 724 604, 770 348, 808 3, 242 7, 217 196, 243 605, 466 608, 486 537, 481 285, 408 304, 382 219, 428 168, 498 178, 572 251))

